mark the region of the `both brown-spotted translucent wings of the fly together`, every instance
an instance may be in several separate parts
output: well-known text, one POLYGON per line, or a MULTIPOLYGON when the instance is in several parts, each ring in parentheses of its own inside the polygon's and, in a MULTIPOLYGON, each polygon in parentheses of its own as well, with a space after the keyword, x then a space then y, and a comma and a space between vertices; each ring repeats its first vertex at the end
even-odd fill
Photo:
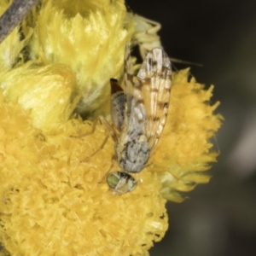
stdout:
POLYGON ((125 123, 128 130, 136 128, 148 137, 150 149, 158 143, 166 124, 171 86, 171 62, 163 49, 154 48, 148 52, 134 78, 130 47, 126 44, 125 123))

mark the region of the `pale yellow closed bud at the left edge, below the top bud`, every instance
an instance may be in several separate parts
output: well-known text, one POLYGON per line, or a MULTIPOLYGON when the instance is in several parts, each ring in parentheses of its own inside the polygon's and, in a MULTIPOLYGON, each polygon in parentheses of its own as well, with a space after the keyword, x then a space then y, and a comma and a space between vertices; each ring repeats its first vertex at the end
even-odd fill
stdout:
POLYGON ((0 84, 5 100, 31 110, 33 125, 43 130, 67 121, 79 100, 73 93, 75 73, 62 64, 27 63, 2 73, 0 84))

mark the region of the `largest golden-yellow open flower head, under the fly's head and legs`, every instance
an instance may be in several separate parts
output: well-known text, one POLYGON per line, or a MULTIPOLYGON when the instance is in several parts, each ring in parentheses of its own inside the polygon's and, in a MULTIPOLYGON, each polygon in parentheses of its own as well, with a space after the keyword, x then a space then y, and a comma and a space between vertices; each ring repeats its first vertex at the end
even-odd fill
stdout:
POLYGON ((76 139, 70 135, 90 131, 89 123, 73 119, 43 133, 3 97, 0 113, 1 241, 11 254, 137 255, 164 236, 166 201, 153 173, 143 174, 134 193, 119 196, 106 183, 112 141, 80 161, 102 143, 102 125, 76 139))

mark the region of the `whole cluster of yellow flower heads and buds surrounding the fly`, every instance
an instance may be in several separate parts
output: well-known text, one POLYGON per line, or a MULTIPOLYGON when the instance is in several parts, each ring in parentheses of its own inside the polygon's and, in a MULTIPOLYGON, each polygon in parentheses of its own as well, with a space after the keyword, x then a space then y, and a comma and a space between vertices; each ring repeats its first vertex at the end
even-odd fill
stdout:
POLYGON ((15 30, 0 45, 14 52, 0 60, 0 242, 10 255, 148 255, 168 228, 166 199, 209 180, 221 116, 212 87, 188 81, 189 70, 173 75, 165 131, 137 189, 108 188, 113 140, 83 161, 108 132, 99 124, 72 137, 91 122, 71 116, 80 97, 78 113, 108 115, 108 81, 123 76, 133 35, 125 14, 120 0, 43 1, 22 24, 25 39, 15 30))

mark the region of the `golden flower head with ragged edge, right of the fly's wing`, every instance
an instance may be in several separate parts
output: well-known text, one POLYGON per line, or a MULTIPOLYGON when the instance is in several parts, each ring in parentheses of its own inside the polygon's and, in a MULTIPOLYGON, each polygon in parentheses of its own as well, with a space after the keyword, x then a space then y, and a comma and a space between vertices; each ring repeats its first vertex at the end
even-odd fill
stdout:
POLYGON ((151 172, 157 172, 162 183, 161 194, 170 201, 182 202, 178 192, 188 192, 198 183, 208 183, 205 174, 218 153, 211 150, 209 139, 223 119, 213 111, 219 102, 210 105, 213 86, 204 90, 203 84, 189 79, 189 69, 173 75, 171 106, 162 139, 154 155, 151 172))

